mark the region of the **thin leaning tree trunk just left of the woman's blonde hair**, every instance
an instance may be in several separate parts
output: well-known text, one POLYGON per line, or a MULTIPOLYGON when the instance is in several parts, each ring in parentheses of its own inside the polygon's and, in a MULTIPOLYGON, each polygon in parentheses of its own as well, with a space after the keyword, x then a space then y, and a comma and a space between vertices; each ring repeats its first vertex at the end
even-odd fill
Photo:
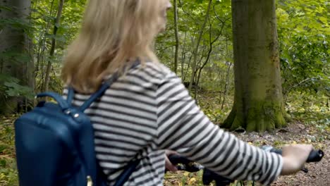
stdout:
MULTIPOLYGON (((51 50, 50 50, 50 54, 49 54, 49 58, 52 58, 54 56, 55 53, 55 46, 56 46, 56 34, 57 34, 57 30, 59 29, 59 23, 61 20, 61 16, 62 16, 62 10, 63 10, 63 4, 64 4, 64 0, 60 1, 59 4, 59 10, 57 11, 57 16, 56 16, 56 20, 55 20, 55 24, 54 24, 54 32, 53 32, 53 39, 51 40, 51 50)), ((51 61, 49 60, 47 62, 47 69, 46 69, 46 74, 44 77, 44 92, 48 91, 48 87, 49 87, 49 79, 50 79, 50 71, 51 71, 51 61)))

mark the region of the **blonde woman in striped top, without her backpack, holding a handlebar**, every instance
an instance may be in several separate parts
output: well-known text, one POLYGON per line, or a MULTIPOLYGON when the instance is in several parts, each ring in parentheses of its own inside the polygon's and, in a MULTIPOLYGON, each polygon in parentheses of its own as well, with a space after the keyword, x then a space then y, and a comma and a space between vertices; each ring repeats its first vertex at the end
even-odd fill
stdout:
POLYGON ((86 111, 109 185, 136 157, 142 160, 127 185, 162 185, 164 149, 219 175, 266 185, 298 171, 311 146, 286 147, 281 157, 238 140, 211 123, 181 80, 158 62, 152 45, 170 7, 169 0, 92 0, 68 49, 62 75, 78 92, 77 106, 111 74, 122 74, 86 111), (140 65, 130 68, 137 60, 140 65))

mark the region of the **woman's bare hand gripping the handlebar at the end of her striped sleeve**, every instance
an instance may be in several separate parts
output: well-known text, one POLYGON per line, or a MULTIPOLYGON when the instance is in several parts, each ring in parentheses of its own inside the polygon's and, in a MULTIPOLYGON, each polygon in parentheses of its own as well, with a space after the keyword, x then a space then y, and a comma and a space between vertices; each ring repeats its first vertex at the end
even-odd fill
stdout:
POLYGON ((281 175, 289 175, 300 171, 312 149, 313 147, 310 144, 294 144, 283 147, 283 168, 281 175))

